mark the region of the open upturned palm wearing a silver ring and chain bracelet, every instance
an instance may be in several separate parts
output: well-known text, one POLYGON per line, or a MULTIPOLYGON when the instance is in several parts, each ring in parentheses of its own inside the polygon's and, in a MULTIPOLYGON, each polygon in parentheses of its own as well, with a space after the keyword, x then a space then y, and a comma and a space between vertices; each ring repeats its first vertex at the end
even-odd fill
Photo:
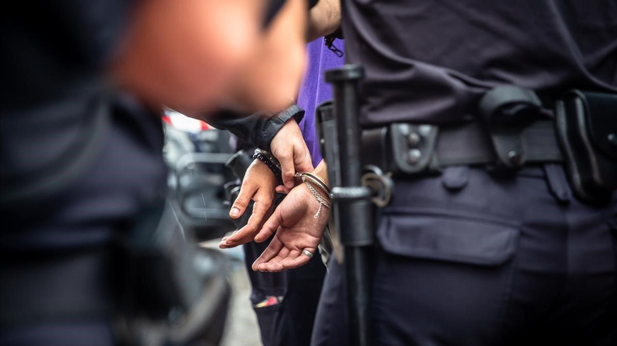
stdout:
POLYGON ((305 184, 293 188, 255 236, 255 241, 260 243, 276 231, 252 269, 281 272, 309 263, 310 257, 302 254, 302 250, 317 254, 317 246, 328 223, 327 207, 321 208, 317 218, 313 217, 319 206, 305 184))

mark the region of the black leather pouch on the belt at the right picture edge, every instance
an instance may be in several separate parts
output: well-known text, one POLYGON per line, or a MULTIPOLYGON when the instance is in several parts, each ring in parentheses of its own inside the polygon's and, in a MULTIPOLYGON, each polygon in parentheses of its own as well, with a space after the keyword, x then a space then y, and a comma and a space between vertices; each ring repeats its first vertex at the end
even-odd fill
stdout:
POLYGON ((566 92, 555 118, 574 193, 589 203, 607 203, 617 188, 617 94, 566 92))

